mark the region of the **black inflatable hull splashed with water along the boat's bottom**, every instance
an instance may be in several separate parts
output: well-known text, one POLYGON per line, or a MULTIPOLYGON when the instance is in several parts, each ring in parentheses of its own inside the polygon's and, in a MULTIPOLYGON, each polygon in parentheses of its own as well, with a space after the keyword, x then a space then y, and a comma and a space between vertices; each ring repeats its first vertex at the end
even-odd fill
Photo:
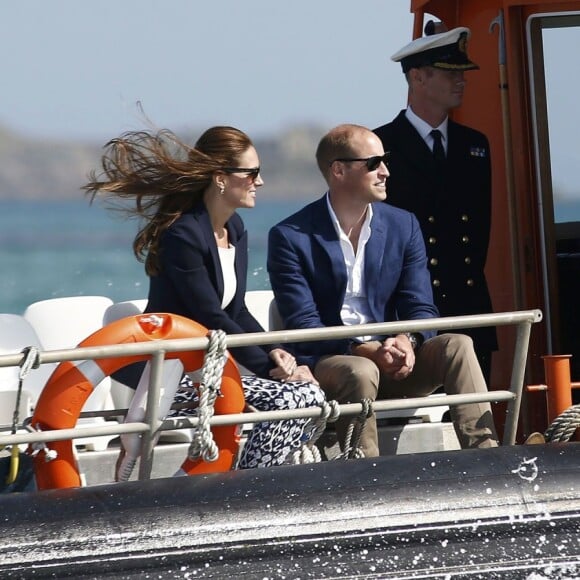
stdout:
POLYGON ((1 578, 580 576, 580 443, 0 498, 1 578))

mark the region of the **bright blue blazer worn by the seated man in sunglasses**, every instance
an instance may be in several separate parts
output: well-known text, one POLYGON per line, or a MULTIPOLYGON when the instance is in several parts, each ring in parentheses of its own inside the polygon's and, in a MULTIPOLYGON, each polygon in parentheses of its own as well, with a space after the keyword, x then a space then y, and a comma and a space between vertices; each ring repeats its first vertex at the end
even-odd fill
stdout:
MULTIPOLYGON (((365 248, 367 299, 376 322, 434 318, 425 245, 415 216, 373 203, 371 236, 365 248)), ((270 230, 268 272, 285 327, 342 326, 347 272, 326 196, 270 230)), ((422 333, 431 338, 433 332, 422 333)), ((326 354, 344 354, 348 340, 292 346, 305 364, 326 354)))

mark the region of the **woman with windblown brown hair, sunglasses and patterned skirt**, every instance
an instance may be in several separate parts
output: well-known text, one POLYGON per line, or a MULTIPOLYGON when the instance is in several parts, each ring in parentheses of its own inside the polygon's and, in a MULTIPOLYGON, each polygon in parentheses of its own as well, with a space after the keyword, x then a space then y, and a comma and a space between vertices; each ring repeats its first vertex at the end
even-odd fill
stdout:
MULTIPOLYGON (((113 139, 105 147, 101 174, 93 172, 83 189, 91 202, 105 195, 141 218, 133 251, 150 281, 145 312, 179 314, 206 328, 240 334, 264 330, 244 300, 248 240, 236 212, 254 207, 263 183, 248 136, 218 126, 193 147, 167 130, 113 139)), ((324 402, 310 369, 279 345, 232 348, 231 354, 251 373, 243 373, 243 390, 257 410, 324 402)), ((312 430, 307 419, 257 424, 238 467, 282 464, 312 430)))

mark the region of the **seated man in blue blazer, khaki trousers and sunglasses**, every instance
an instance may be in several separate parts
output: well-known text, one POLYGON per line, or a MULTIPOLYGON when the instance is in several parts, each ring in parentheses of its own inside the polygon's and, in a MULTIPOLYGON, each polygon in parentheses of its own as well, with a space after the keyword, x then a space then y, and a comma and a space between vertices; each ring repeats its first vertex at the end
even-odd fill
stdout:
MULTIPOLYGON (((320 328, 438 316, 421 230, 415 216, 382 203, 389 175, 380 139, 358 125, 340 125, 316 152, 328 192, 270 230, 268 272, 288 329, 320 328)), ((329 399, 486 392, 473 350, 462 334, 432 332, 361 336, 292 345, 329 399)), ((489 404, 451 410, 463 448, 493 447, 489 404)), ((337 422, 344 442, 349 419, 337 422)), ((379 454, 374 417, 360 439, 365 456, 379 454)))

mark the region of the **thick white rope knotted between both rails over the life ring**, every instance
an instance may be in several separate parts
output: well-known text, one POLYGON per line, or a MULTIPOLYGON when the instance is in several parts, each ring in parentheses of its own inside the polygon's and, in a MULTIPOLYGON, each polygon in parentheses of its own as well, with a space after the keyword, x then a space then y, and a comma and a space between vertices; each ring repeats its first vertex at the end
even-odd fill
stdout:
POLYGON ((216 461, 219 457, 219 449, 213 440, 209 422, 214 414, 215 400, 221 394, 220 386, 225 363, 226 333, 223 330, 211 330, 199 385, 199 424, 193 433, 187 453, 192 461, 200 457, 204 461, 216 461))

